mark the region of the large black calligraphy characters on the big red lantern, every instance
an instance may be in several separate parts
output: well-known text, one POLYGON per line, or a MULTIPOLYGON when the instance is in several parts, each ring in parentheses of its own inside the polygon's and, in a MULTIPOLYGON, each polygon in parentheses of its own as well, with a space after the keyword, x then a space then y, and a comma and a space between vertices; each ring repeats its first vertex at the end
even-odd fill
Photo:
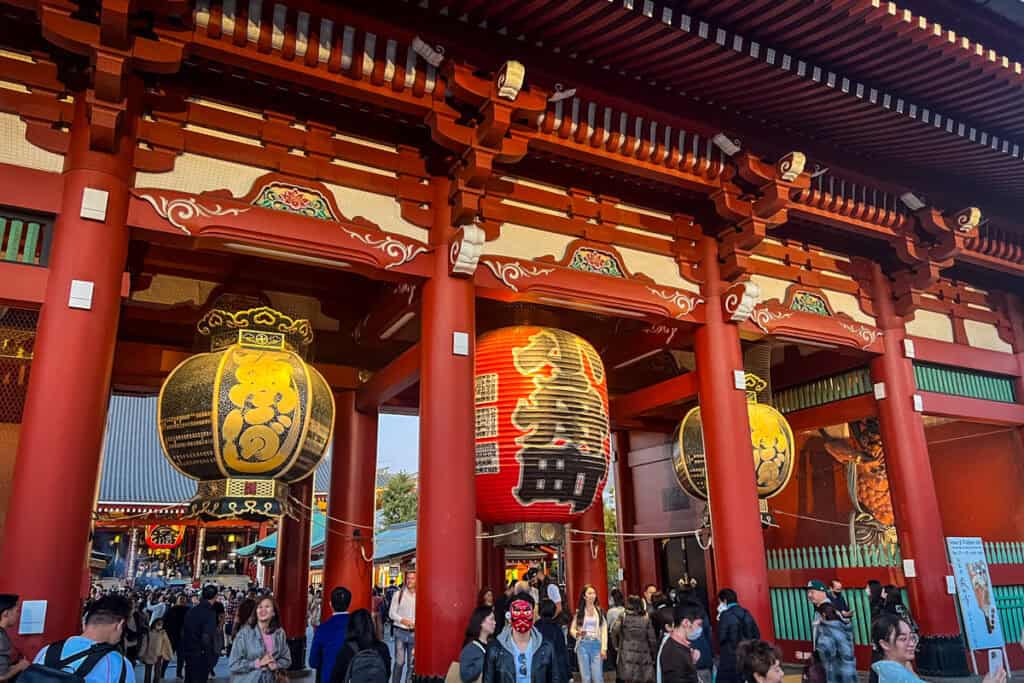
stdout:
POLYGON ((582 512, 594 502, 607 469, 608 409, 598 391, 604 381, 600 356, 559 330, 542 330, 512 350, 516 370, 535 389, 520 398, 512 424, 522 432, 519 482, 523 505, 561 503, 582 512))

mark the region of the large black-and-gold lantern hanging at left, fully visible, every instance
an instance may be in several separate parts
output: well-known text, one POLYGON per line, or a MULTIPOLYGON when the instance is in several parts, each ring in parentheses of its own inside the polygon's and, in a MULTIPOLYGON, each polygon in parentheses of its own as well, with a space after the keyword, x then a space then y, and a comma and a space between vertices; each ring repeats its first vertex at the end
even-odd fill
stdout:
POLYGON ((312 474, 327 451, 334 397, 304 359, 308 321, 267 306, 217 307, 227 300, 199 322, 210 352, 184 360, 161 388, 161 445, 199 480, 191 513, 276 516, 291 509, 288 484, 312 474))

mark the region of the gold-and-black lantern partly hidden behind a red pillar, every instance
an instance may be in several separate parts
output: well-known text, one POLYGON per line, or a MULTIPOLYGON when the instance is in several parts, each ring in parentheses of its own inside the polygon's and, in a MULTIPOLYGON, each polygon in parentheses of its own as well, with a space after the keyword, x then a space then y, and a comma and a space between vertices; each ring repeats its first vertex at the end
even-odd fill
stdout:
MULTIPOLYGON (((778 495, 793 475, 795 445, 793 429, 781 413, 767 403, 758 402, 758 394, 767 383, 746 373, 746 417, 754 450, 754 473, 757 477, 758 499, 762 523, 772 523, 768 499, 778 495)), ((701 501, 708 500, 708 469, 705 453, 700 407, 690 410, 676 430, 673 462, 676 478, 683 490, 701 501)), ((709 519, 706 516, 706 523, 709 519)))

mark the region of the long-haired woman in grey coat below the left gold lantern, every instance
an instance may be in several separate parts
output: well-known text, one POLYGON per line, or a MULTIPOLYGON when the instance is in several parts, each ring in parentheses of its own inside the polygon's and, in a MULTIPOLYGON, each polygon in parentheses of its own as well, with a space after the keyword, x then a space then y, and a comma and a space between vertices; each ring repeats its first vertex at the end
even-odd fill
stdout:
POLYGON ((269 596, 260 598, 231 644, 231 683, 273 683, 276 672, 291 665, 292 654, 278 618, 278 603, 269 596))

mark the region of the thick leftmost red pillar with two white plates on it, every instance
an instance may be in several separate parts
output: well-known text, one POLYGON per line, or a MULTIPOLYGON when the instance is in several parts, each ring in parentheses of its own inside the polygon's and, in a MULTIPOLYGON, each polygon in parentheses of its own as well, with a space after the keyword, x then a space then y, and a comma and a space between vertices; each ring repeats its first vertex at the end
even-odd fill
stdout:
POLYGON ((124 113, 126 130, 114 154, 95 152, 89 147, 89 98, 75 93, 63 195, 0 556, 0 591, 48 603, 42 635, 23 639, 27 652, 81 629, 82 567, 125 282, 135 113, 124 113), (106 193, 102 219, 81 217, 87 188, 106 193), (88 308, 69 305, 73 281, 91 285, 88 308), (61 558, 59 570, 55 558, 61 558))

